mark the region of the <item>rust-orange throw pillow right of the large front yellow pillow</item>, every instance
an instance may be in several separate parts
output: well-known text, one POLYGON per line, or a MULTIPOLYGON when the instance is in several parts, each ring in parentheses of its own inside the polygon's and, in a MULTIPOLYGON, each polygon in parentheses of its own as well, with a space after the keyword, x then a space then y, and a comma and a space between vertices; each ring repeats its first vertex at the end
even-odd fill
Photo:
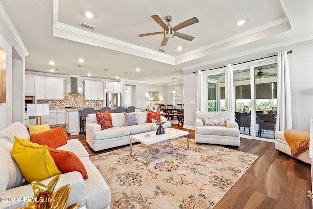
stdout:
POLYGON ((84 164, 74 153, 65 150, 53 149, 50 147, 48 147, 48 150, 56 166, 62 173, 78 171, 82 174, 84 179, 88 178, 84 164))

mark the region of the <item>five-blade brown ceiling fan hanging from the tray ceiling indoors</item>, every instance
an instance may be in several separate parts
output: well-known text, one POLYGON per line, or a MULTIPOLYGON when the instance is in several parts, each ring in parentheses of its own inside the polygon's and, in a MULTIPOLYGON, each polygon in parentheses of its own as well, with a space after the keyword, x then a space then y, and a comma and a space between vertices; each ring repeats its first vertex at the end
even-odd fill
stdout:
POLYGON ((161 25, 161 27, 164 29, 164 31, 154 32, 154 33, 139 34, 140 37, 151 36, 151 35, 164 33, 164 38, 163 38, 163 41, 161 43, 161 46, 166 46, 168 39, 173 38, 174 36, 177 36, 179 38, 182 38, 182 39, 185 39, 185 40, 188 40, 188 41, 192 41, 195 38, 193 36, 189 36, 187 34, 179 33, 177 31, 179 29, 181 29, 181 28, 187 27, 187 26, 192 25, 194 23, 198 23, 199 20, 196 17, 190 18, 189 20, 186 20, 186 21, 176 25, 175 27, 171 27, 171 25, 170 25, 170 22, 172 21, 172 16, 170 16, 170 15, 165 17, 167 25, 164 23, 164 21, 162 21, 162 19, 158 15, 152 15, 151 17, 156 21, 156 23, 161 25))

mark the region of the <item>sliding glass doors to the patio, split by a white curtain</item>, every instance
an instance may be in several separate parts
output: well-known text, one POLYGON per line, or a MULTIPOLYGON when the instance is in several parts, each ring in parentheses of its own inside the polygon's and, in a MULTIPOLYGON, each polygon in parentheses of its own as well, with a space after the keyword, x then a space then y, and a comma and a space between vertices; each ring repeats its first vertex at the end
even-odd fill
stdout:
MULTIPOLYGON (((225 68, 203 72, 208 111, 225 110, 225 68)), ((233 65, 235 120, 247 138, 273 140, 277 113, 277 57, 233 65)))

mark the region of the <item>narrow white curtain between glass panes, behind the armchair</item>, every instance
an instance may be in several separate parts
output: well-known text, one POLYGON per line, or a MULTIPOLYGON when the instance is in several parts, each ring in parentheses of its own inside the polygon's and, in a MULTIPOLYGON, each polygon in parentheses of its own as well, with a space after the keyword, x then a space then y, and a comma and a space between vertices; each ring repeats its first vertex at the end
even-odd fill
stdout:
POLYGON ((233 67, 227 64, 225 72, 226 111, 235 111, 233 67))

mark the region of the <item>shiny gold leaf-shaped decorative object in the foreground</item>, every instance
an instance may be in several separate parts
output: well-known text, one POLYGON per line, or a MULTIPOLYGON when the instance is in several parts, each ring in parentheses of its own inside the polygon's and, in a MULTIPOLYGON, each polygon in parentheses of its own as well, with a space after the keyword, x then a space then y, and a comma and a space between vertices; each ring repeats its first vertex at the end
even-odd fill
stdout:
POLYGON ((47 186, 33 181, 31 183, 34 190, 33 198, 26 202, 26 207, 17 209, 76 209, 79 203, 74 203, 65 208, 70 193, 69 184, 62 186, 53 193, 59 178, 60 176, 56 176, 47 186))

